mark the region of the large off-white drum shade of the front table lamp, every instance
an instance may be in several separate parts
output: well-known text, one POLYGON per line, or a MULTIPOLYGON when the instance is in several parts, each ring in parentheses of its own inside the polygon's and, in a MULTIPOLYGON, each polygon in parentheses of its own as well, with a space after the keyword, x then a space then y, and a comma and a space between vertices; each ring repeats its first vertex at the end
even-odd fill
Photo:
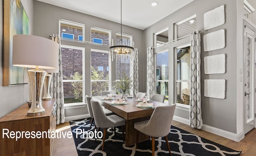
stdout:
POLYGON ((14 35, 12 65, 39 69, 58 69, 59 44, 32 35, 14 35))

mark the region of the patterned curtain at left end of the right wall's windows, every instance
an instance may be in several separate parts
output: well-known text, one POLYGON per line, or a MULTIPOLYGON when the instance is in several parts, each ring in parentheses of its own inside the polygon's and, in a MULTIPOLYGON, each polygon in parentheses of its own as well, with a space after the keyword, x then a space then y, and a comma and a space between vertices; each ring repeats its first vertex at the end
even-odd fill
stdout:
POLYGON ((149 97, 155 93, 154 53, 151 47, 147 49, 147 92, 149 97))

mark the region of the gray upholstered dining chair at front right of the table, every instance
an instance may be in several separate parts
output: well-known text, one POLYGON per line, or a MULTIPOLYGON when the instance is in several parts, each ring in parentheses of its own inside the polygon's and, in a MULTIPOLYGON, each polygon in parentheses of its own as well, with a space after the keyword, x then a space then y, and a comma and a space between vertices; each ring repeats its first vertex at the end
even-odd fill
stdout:
POLYGON ((166 145, 169 150, 169 154, 170 156, 172 156, 167 135, 170 132, 170 127, 172 124, 172 118, 174 115, 175 107, 176 107, 176 104, 168 105, 168 106, 158 106, 155 108, 149 120, 136 122, 134 124, 134 128, 137 130, 136 148, 138 148, 138 138, 139 138, 139 131, 140 131, 148 136, 151 136, 152 138, 152 156, 154 156, 154 151, 155 151, 155 137, 165 138, 166 145))

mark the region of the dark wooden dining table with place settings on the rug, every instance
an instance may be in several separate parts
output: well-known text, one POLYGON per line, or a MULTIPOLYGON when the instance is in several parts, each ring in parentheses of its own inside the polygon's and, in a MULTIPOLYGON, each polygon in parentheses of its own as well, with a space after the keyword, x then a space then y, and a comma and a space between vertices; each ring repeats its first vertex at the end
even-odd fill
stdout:
MULTIPOLYGON (((143 109, 140 107, 136 107, 139 103, 136 100, 136 97, 128 98, 125 105, 112 105, 111 102, 116 99, 120 99, 119 95, 114 97, 112 100, 103 100, 105 96, 93 96, 92 99, 94 101, 98 101, 103 107, 109 109, 114 112, 116 115, 124 118, 126 120, 125 125, 125 145, 131 146, 136 144, 136 129, 134 129, 134 123, 149 120, 150 115, 152 115, 154 108, 157 106, 166 106, 169 104, 160 103, 156 101, 150 101, 149 103, 153 103, 152 108, 143 109)), ((149 140, 150 136, 140 133, 139 142, 149 140)))

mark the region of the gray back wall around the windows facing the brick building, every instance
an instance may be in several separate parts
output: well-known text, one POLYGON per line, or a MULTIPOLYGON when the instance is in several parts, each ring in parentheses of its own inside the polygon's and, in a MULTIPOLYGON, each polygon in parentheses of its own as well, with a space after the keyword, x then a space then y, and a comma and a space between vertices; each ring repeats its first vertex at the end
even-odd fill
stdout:
MULTIPOLYGON (((117 16, 119 16, 117 14, 117 16)), ((36 36, 42 36, 48 38, 49 34, 58 34, 58 20, 68 20, 72 22, 77 22, 81 24, 85 24, 85 40, 90 41, 90 28, 98 27, 106 30, 111 30, 112 39, 115 40, 116 32, 120 32, 120 23, 111 22, 108 20, 104 20, 102 18, 98 18, 95 16, 90 16, 87 14, 82 14, 79 12, 75 12, 72 10, 60 8, 58 6, 46 4, 39 1, 34 1, 34 34, 36 36)), ((139 49, 139 60, 142 60, 145 56, 142 52, 142 33, 143 31, 140 29, 132 28, 129 26, 122 26, 122 33, 132 35, 135 47, 139 49)), ((62 41, 62 45, 70 45, 70 41, 62 41)), ((78 45, 81 46, 81 45, 78 45)), ((108 50, 108 47, 97 46, 84 44, 85 47, 85 94, 91 95, 90 93, 90 49, 102 49, 108 50)), ((146 54, 145 54, 146 55, 146 54)), ((145 71, 146 63, 143 61, 139 61, 139 71, 145 71)), ((112 69, 115 69, 115 63, 112 63, 112 69)), ((116 77, 111 75, 112 77, 116 77)), ((144 91, 144 79, 146 79, 146 74, 139 72, 139 90, 144 91)), ((65 111, 66 115, 74 116, 74 115, 82 115, 87 114, 87 110, 81 111, 78 109, 68 109, 65 111)))

